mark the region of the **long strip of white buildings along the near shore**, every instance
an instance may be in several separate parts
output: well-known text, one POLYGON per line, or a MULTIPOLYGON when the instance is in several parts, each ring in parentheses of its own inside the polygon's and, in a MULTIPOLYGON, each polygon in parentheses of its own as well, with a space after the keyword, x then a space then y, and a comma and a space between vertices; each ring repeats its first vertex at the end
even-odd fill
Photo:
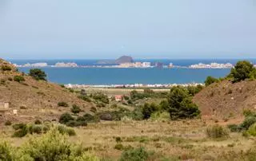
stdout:
MULTIPOLYGON (((171 88, 174 86, 197 86, 199 83, 190 84, 110 84, 110 85, 90 85, 90 84, 65 84, 66 88, 171 88)), ((204 85, 204 84, 200 84, 204 85)))

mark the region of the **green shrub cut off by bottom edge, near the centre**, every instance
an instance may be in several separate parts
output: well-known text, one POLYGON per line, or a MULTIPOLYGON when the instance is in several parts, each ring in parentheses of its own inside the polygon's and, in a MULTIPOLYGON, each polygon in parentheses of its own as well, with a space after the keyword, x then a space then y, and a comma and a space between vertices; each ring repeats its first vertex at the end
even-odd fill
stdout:
POLYGON ((146 161, 149 157, 150 153, 144 147, 139 147, 123 151, 119 161, 146 161))

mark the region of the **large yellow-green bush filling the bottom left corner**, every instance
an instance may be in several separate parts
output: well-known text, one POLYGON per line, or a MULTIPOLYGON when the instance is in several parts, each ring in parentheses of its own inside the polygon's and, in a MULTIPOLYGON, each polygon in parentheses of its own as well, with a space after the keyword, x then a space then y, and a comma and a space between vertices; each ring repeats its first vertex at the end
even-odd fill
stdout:
POLYGON ((70 143, 58 128, 52 128, 40 137, 31 137, 21 147, 12 147, 6 142, 0 143, 0 159, 6 161, 99 161, 96 156, 83 150, 81 145, 70 143))

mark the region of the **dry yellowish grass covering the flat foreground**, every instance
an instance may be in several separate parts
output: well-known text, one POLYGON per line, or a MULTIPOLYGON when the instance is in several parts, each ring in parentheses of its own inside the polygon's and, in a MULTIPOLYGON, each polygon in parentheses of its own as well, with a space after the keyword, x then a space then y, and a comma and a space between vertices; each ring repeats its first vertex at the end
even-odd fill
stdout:
MULTIPOLYGON (((185 121, 130 121, 101 122, 89 124, 85 128, 76 128, 76 136, 70 137, 75 143, 94 151, 100 157, 118 159, 122 151, 115 149, 117 137, 121 138, 123 147, 146 147, 158 155, 179 157, 180 159, 198 159, 210 154, 221 155, 223 151, 241 151, 253 146, 253 141, 241 134, 231 133, 226 139, 209 139, 206 127, 213 121, 204 123, 202 120, 185 121)), ((15 145, 20 145, 22 139, 11 138, 11 128, 2 130, 5 137, 15 145)), ((208 156, 207 156, 208 157, 208 156)))

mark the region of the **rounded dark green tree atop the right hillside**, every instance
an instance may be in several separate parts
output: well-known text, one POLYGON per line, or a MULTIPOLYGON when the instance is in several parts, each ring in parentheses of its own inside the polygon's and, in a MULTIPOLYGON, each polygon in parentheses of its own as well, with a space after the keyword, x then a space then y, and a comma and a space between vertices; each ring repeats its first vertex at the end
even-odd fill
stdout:
POLYGON ((244 81, 251 76, 254 72, 254 65, 249 61, 238 61, 237 64, 231 69, 230 77, 233 78, 233 82, 244 81))

